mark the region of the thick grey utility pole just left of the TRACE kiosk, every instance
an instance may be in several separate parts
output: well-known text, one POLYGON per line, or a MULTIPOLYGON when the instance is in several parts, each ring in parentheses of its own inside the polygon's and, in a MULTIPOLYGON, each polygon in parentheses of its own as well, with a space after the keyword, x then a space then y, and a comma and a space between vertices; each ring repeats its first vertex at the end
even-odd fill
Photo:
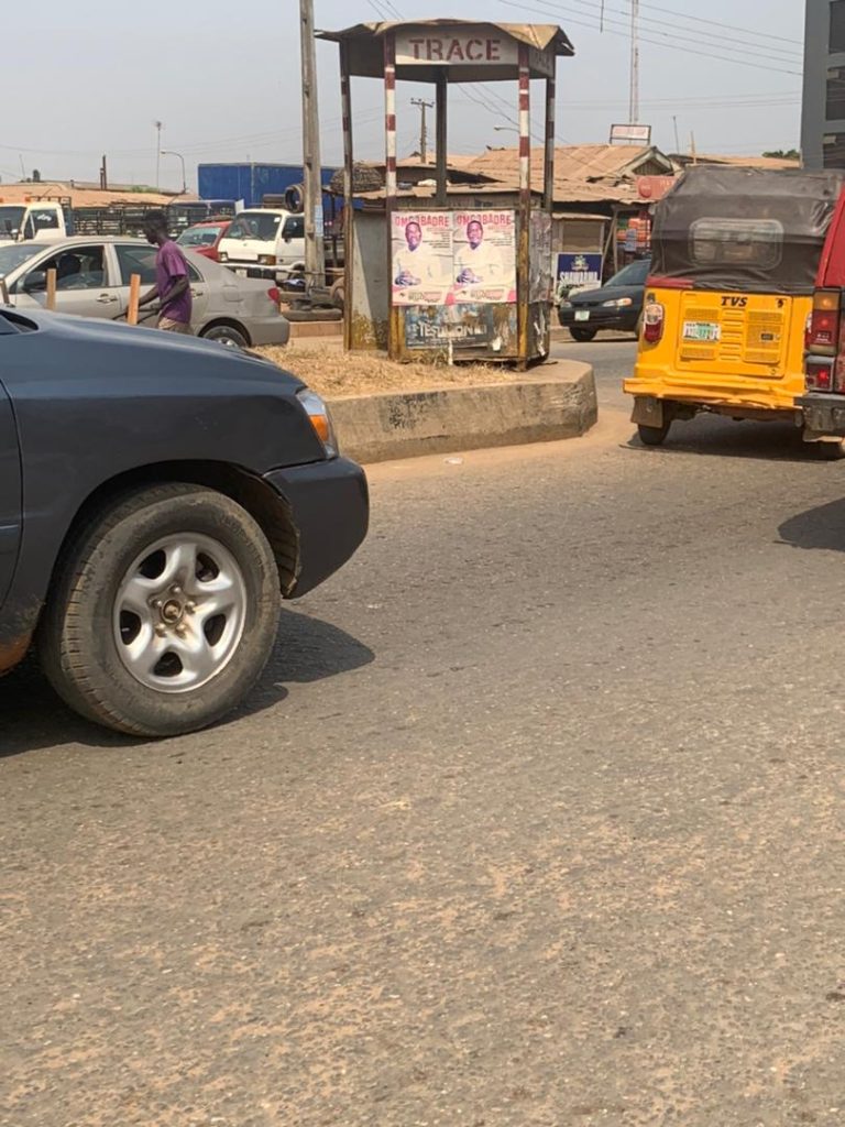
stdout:
POLYGON ((305 189, 305 282, 326 282, 323 243, 322 168, 320 163, 320 114, 317 103, 317 52, 314 51, 314 0, 300 0, 302 44, 302 168, 305 189))

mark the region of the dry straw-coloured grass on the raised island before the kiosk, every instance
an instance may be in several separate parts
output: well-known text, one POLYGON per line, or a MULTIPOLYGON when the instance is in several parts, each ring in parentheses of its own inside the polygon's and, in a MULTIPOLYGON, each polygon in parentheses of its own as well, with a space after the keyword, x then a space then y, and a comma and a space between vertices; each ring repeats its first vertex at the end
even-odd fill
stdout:
POLYGON ((279 367, 297 375, 321 396, 368 394, 376 391, 427 391, 473 383, 507 383, 519 379, 499 364, 397 364, 381 353, 345 353, 330 345, 256 348, 279 367))

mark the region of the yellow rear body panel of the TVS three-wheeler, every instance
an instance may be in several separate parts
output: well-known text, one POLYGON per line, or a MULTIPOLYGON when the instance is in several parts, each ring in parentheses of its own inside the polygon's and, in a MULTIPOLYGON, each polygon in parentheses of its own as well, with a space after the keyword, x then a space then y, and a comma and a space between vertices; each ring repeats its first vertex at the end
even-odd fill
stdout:
POLYGON ((731 414, 791 411, 803 394, 803 345, 812 298, 661 290, 646 302, 665 310, 657 344, 640 338, 631 396, 731 414))

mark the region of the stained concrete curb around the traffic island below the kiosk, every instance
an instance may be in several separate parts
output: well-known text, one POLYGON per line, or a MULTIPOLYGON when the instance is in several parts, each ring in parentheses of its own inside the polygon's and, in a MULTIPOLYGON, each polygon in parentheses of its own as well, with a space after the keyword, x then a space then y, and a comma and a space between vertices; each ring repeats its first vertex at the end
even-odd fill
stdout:
POLYGON ((598 417, 593 369, 575 361, 514 383, 345 396, 329 407, 340 450, 356 462, 576 438, 598 417))

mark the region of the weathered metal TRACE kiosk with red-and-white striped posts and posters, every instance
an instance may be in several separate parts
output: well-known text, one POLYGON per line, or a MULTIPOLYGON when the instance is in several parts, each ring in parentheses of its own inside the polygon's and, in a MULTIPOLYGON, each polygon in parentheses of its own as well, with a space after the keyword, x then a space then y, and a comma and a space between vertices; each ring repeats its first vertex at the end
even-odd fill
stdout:
POLYGON ((340 46, 344 116, 345 346, 392 360, 446 356, 524 370, 549 352, 558 55, 575 48, 553 24, 455 19, 359 24, 320 37, 340 46), (384 190, 355 190, 350 80, 384 82, 384 190), (433 184, 400 192, 397 79, 436 97, 433 184), (531 80, 545 83, 542 183, 532 184, 531 80), (518 176, 447 183, 450 83, 518 82, 518 176), (353 206, 354 197, 363 206, 353 206))

